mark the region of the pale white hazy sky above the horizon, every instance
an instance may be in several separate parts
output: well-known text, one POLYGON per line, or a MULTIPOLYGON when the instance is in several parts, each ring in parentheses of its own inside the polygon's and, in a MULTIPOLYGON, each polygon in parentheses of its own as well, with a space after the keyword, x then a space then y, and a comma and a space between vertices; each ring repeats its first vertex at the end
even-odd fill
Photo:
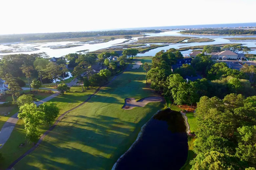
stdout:
POLYGON ((256 22, 256 0, 0 1, 0 34, 256 22))

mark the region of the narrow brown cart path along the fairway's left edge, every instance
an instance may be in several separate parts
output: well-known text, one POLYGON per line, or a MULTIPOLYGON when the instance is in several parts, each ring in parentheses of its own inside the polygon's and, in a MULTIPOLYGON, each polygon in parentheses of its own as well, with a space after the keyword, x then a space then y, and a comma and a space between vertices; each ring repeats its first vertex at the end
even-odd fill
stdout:
MULTIPOLYGON (((129 69, 129 66, 130 66, 130 65, 128 65, 127 68, 126 68, 123 72, 127 71, 127 69, 129 69)), ((123 72, 122 72, 122 73, 123 73, 123 72)), ((119 75, 121 75, 122 73, 120 73, 119 75)), ((119 75, 117 75, 117 76, 119 76, 119 75)), ((109 82, 107 82, 106 84, 104 84, 104 85, 101 86, 101 87, 104 87, 104 86, 106 86, 107 84, 109 84, 110 82, 114 81, 114 80, 117 78, 117 76, 115 76, 112 80, 110 80, 109 82)), ((11 170, 11 168, 13 168, 13 166, 14 166, 16 163, 18 163, 20 160, 22 160, 22 158, 24 158, 25 156, 27 156, 28 154, 30 154, 33 150, 35 150, 35 148, 37 148, 37 147, 41 144, 41 142, 43 141, 43 139, 45 138, 45 136, 48 135, 48 133, 50 133, 50 132, 54 129, 55 126, 57 126, 57 124, 60 122, 60 120, 62 119, 62 117, 63 117, 65 114, 69 113, 69 112, 72 111, 72 110, 77 109, 78 107, 80 107, 80 106, 82 106, 83 104, 85 104, 86 102, 88 102, 88 100, 90 100, 90 99, 100 90, 101 87, 97 88, 97 90, 96 90, 93 94, 91 94, 83 103, 81 103, 80 105, 76 106, 75 108, 73 108, 73 109, 71 109, 71 110, 68 110, 68 111, 64 112, 62 115, 60 115, 60 116, 58 117, 58 119, 56 120, 56 122, 53 124, 53 126, 51 126, 46 132, 44 132, 44 134, 39 138, 38 142, 37 142, 31 149, 29 149, 27 152, 25 152, 23 155, 21 155, 18 159, 16 159, 14 162, 12 162, 11 165, 9 165, 9 167, 8 167, 7 169, 10 169, 10 170, 11 170)))

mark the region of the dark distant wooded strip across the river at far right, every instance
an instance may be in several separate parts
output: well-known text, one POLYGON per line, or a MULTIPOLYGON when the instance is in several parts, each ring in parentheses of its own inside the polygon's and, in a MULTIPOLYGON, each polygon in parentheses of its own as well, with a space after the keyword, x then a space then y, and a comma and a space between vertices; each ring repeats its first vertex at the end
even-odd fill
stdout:
POLYGON ((211 35, 254 35, 256 30, 248 29, 198 29, 181 31, 185 34, 211 34, 211 35))

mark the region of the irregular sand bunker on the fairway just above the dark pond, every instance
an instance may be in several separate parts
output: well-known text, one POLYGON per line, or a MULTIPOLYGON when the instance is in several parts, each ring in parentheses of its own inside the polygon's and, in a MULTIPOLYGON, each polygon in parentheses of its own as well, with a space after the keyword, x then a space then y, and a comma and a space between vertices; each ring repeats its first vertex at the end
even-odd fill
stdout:
POLYGON ((134 107, 144 107, 146 104, 150 102, 162 102, 162 101, 164 101, 164 99, 158 96, 146 97, 138 101, 136 101, 135 98, 127 98, 125 99, 125 104, 122 107, 122 109, 131 110, 134 107))

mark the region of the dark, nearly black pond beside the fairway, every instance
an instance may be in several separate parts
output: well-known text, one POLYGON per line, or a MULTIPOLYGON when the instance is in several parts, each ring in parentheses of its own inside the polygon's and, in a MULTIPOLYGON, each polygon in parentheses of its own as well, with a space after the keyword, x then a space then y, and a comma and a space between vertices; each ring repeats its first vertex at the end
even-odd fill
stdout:
POLYGON ((180 112, 164 110, 151 119, 139 142, 126 153, 116 170, 179 170, 188 154, 186 127, 180 112))

